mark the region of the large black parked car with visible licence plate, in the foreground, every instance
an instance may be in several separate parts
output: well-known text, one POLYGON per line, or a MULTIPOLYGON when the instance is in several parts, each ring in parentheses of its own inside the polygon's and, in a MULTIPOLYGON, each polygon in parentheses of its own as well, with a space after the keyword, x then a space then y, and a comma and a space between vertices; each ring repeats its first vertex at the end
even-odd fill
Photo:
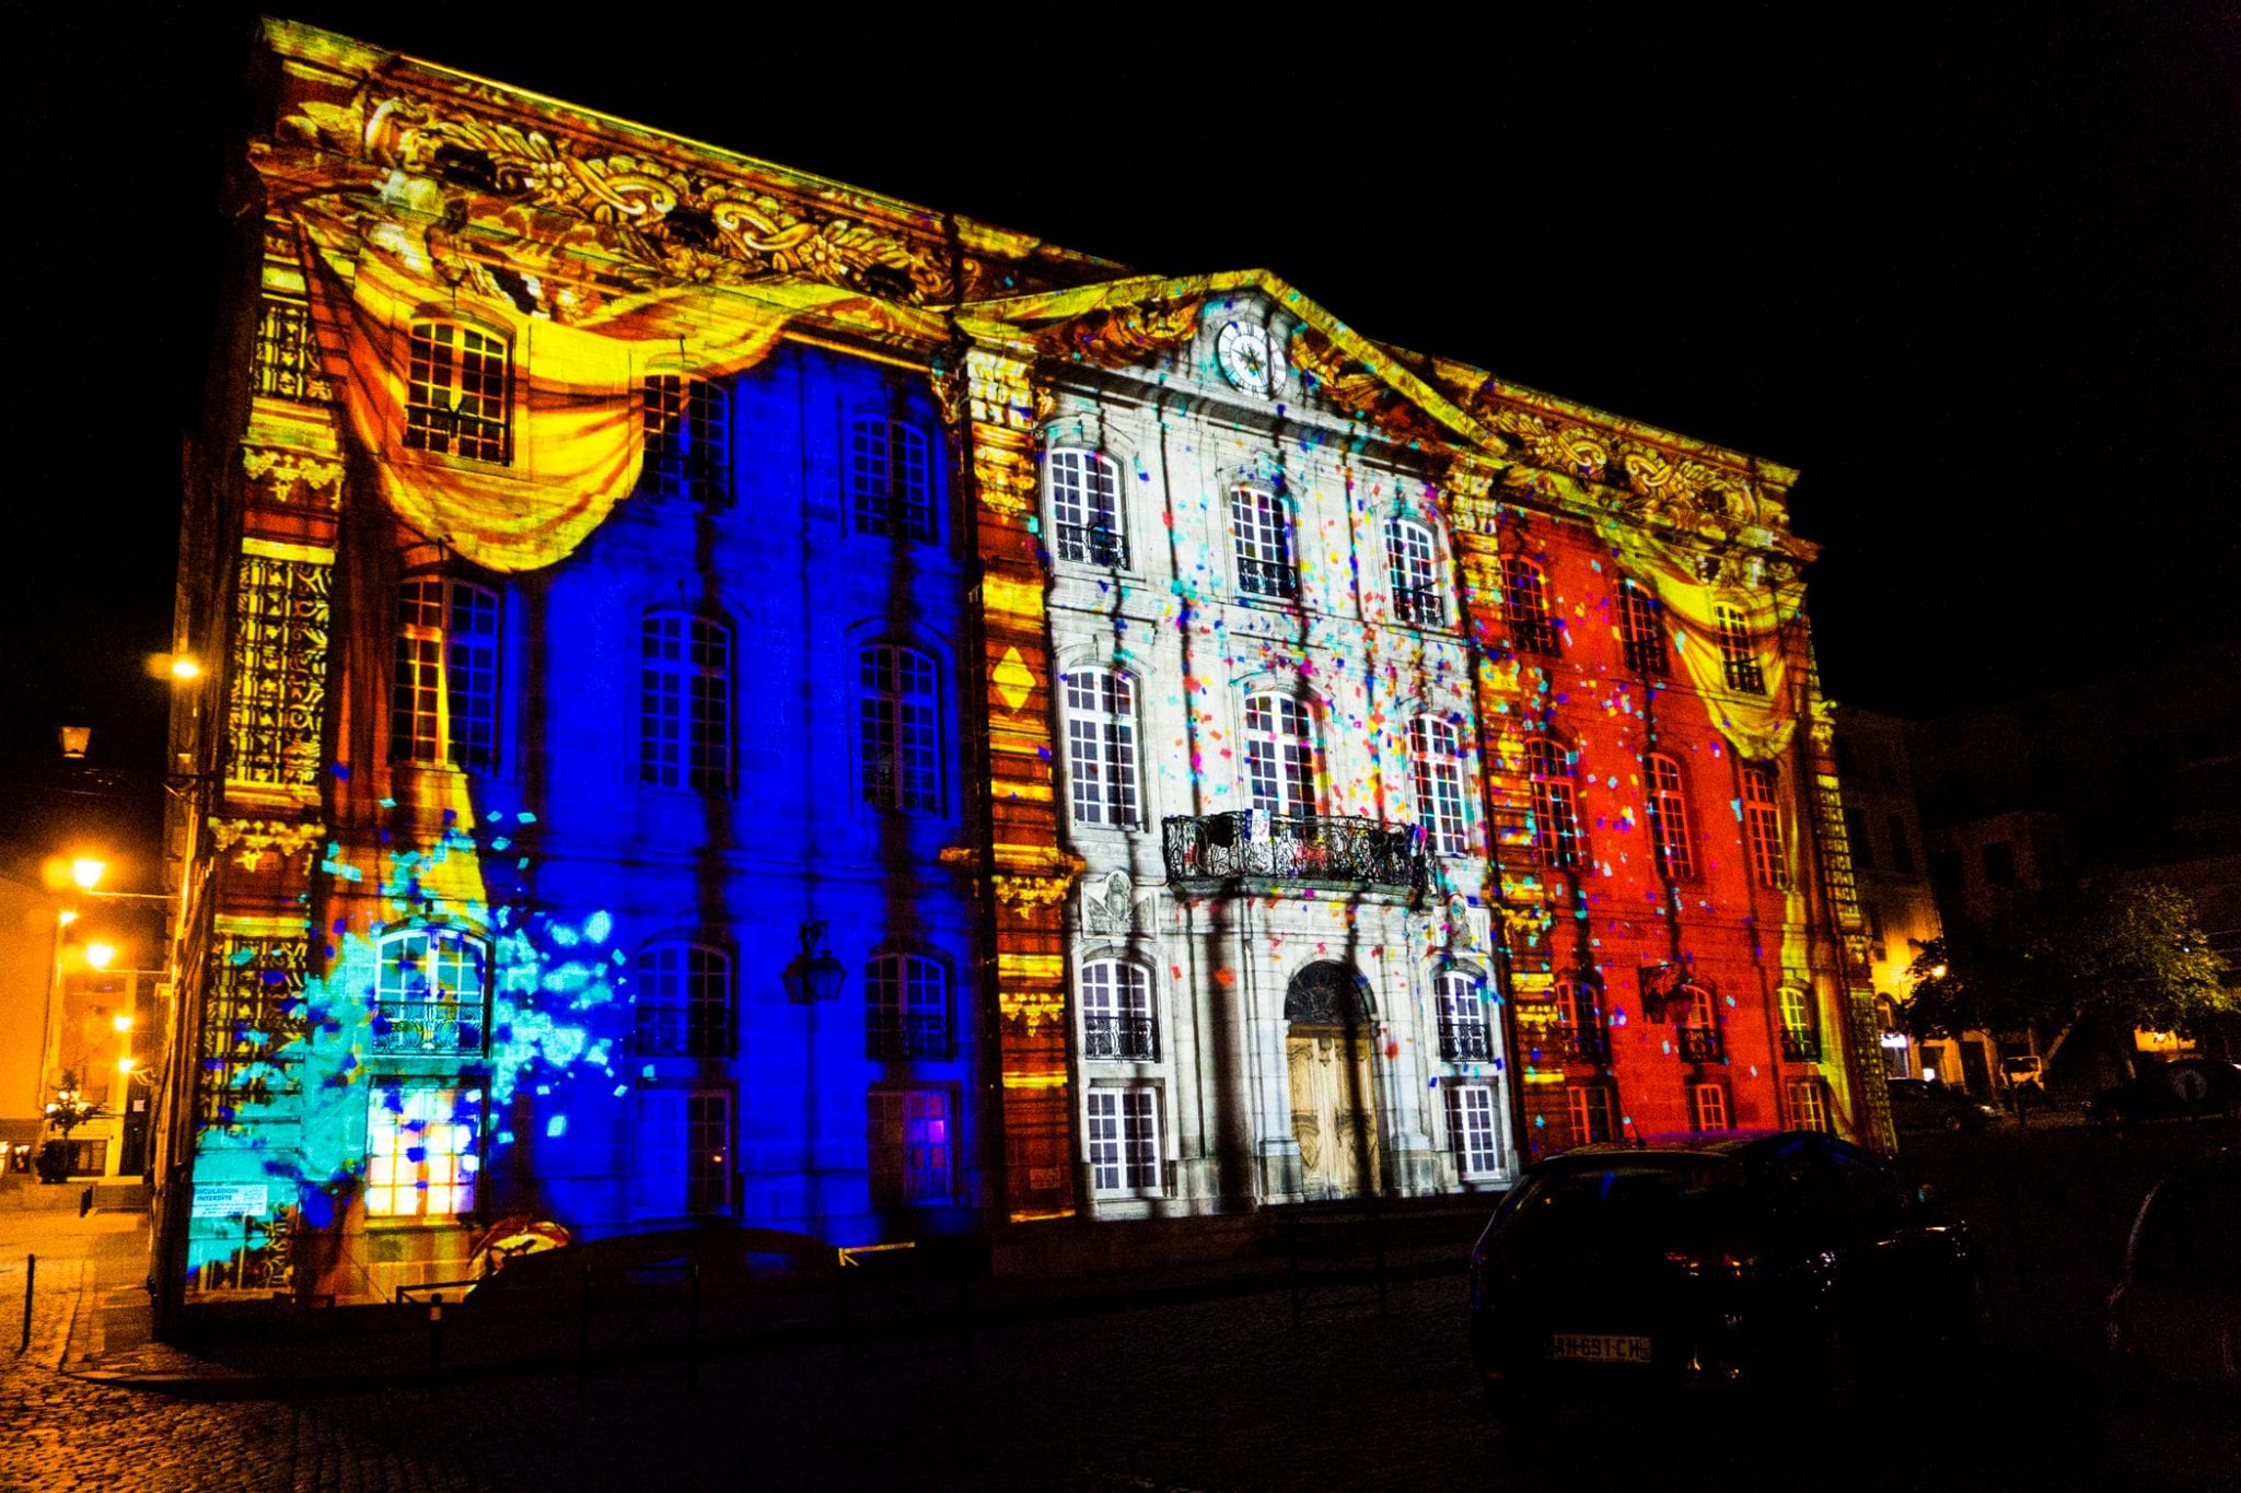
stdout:
POLYGON ((1506 1410, 1914 1383, 1965 1359, 1981 1303, 1968 1229, 1815 1130, 1569 1151, 1526 1171, 1470 1256, 1472 1359, 1506 1410))

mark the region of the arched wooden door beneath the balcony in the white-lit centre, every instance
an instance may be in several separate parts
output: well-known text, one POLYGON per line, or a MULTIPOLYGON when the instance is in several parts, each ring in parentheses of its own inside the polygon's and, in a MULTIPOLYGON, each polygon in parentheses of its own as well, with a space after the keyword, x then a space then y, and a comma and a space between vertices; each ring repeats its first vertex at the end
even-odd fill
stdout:
POLYGON ((1369 992, 1336 960, 1309 965, 1284 989, 1291 1133, 1309 1198, 1378 1191, 1378 1119, 1369 1070, 1369 992))

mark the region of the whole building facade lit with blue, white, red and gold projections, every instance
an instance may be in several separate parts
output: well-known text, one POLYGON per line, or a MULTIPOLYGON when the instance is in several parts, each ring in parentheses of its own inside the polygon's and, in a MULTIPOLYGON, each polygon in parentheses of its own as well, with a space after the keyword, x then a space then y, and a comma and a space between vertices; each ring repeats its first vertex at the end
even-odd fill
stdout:
POLYGON ((190 1300, 1882 1135, 1793 472, 1262 271, 264 47, 182 571, 190 1300))

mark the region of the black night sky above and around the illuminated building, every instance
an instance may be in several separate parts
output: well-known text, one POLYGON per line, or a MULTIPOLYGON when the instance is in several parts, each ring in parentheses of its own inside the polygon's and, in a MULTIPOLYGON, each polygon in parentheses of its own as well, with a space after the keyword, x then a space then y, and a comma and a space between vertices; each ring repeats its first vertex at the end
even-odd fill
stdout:
MULTIPOLYGON (((1847 703, 2241 636, 2237 4, 1134 7, 1080 34, 1031 7, 278 9, 1141 269, 1262 264, 1374 338, 1802 468, 1847 703)), ((139 660, 249 16, 9 16, 11 497, 45 542, 0 546, 27 600, 0 611, 0 839, 61 719, 159 759, 139 660)))

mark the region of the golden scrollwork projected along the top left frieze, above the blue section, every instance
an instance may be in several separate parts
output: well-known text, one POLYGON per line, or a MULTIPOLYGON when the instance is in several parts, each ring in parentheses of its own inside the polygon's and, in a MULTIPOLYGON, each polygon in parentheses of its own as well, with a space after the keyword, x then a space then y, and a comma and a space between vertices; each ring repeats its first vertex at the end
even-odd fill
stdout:
POLYGON ((753 181, 484 119, 450 101, 361 90, 347 105, 303 101, 287 125, 323 150, 574 217, 598 248, 668 280, 800 275, 912 304, 955 291, 934 233, 903 235, 753 181))

